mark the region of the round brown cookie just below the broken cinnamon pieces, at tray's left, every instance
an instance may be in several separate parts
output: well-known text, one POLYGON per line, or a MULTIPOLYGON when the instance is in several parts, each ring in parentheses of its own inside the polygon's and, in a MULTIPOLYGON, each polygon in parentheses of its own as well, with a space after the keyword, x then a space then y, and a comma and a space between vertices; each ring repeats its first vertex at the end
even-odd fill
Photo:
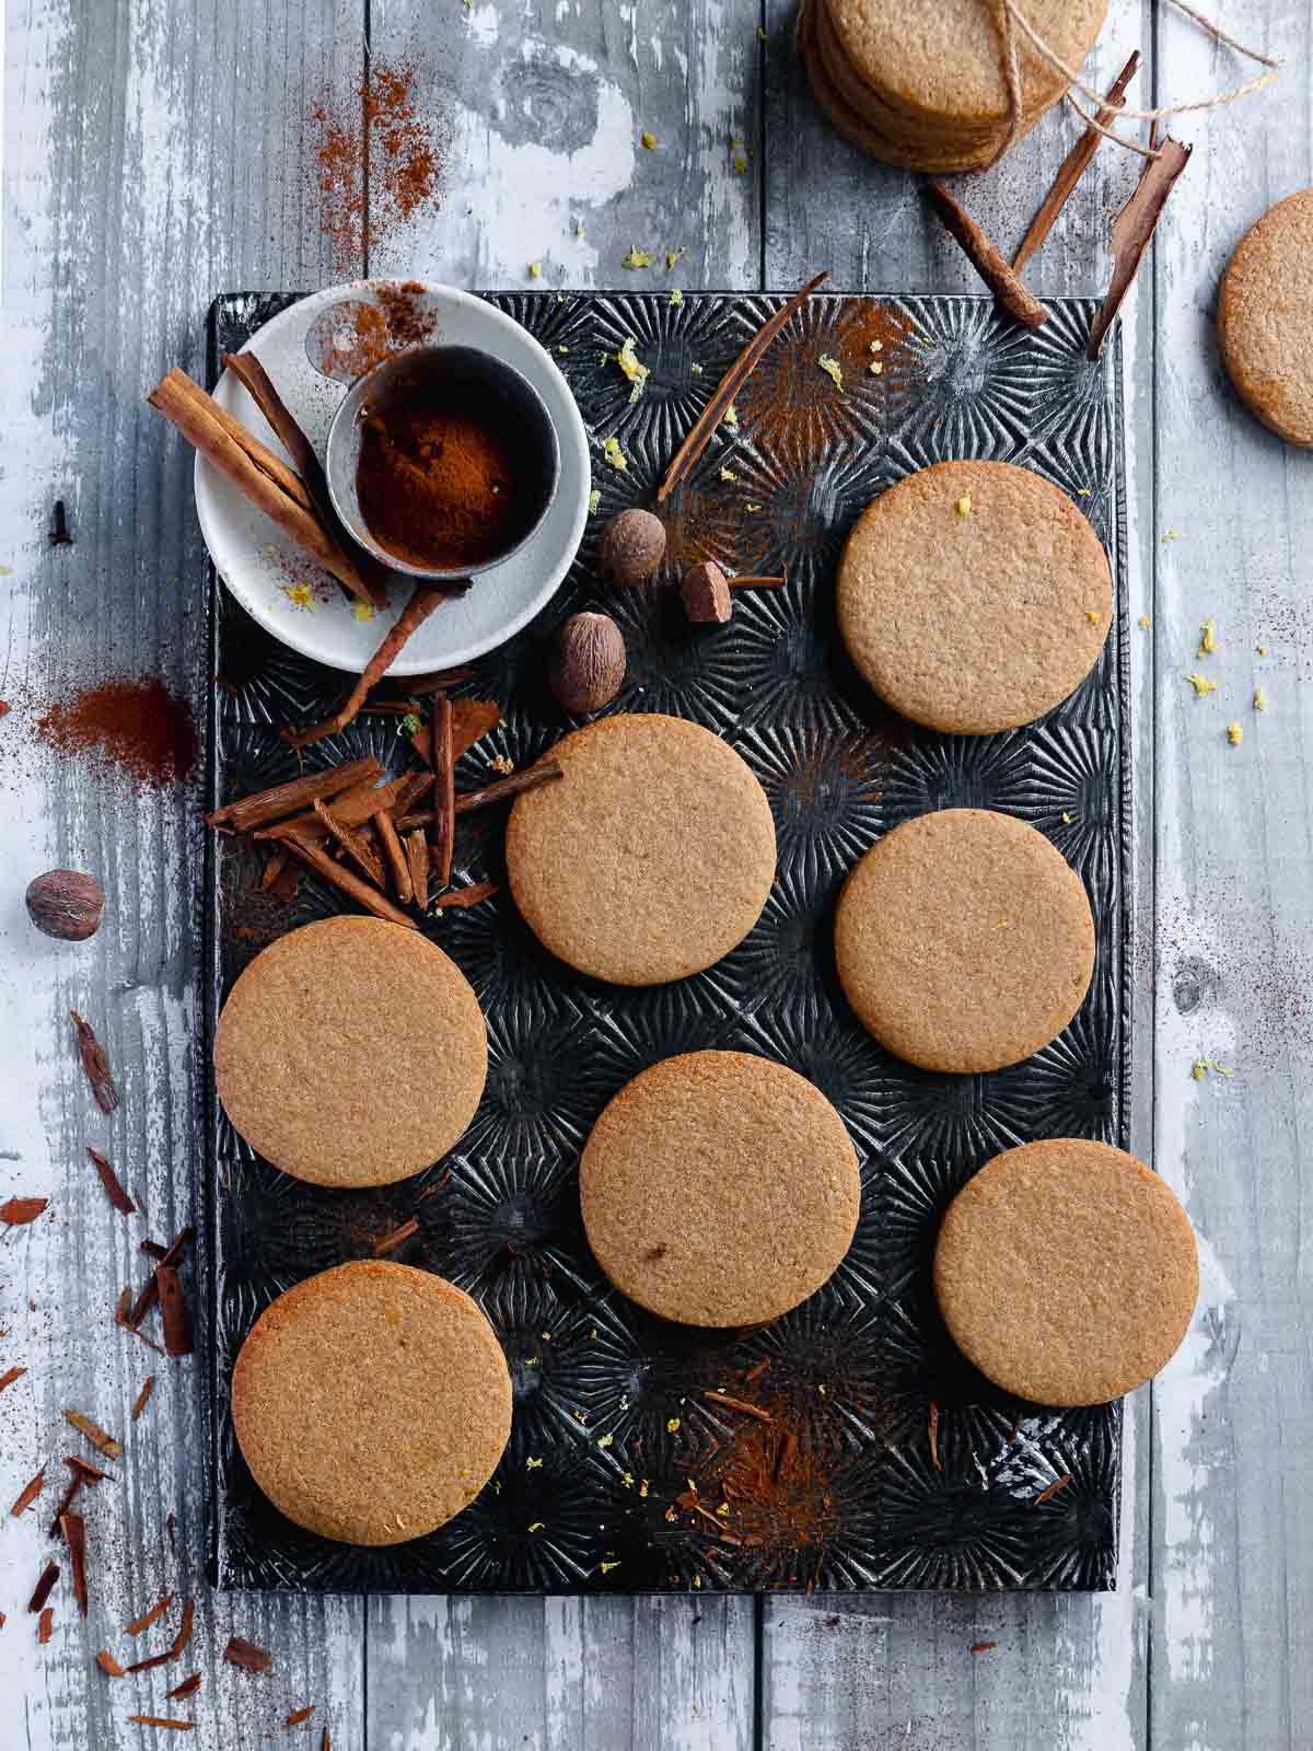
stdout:
POLYGON ((474 1117, 487 1068, 464 974, 375 918, 326 918, 270 944, 214 1037, 233 1126, 315 1185, 387 1185, 427 1168, 474 1117))

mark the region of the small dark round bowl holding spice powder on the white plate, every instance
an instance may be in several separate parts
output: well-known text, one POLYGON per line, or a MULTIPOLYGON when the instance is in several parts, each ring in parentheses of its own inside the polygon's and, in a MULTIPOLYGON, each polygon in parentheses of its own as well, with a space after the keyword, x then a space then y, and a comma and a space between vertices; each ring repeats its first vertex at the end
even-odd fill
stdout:
POLYGON ((333 508, 366 552, 410 578, 457 583, 501 566, 532 538, 557 496, 560 445, 543 397, 515 366, 490 352, 480 352, 478 347, 413 347, 366 371, 341 399, 329 425, 326 473, 333 508), (513 539, 476 566, 452 569, 415 566, 375 541, 361 515, 355 471, 361 461, 364 418, 394 396, 422 403, 425 387, 432 387, 446 401, 457 399, 495 424, 523 482, 525 515, 513 539))

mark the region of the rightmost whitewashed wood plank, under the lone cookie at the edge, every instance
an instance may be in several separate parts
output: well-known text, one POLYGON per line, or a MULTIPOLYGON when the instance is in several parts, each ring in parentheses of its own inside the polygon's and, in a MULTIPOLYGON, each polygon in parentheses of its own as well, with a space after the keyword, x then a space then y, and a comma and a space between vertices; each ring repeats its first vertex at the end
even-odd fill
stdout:
MULTIPOLYGON (((1278 56, 1281 81, 1182 128, 1196 152, 1155 263, 1155 1149, 1199 1231, 1203 1294, 1155 1389, 1152 1742, 1267 1751, 1306 1744, 1313 1718, 1313 459, 1236 401, 1213 305, 1241 233, 1313 182, 1313 19, 1246 0, 1225 25, 1278 56), (1220 651, 1196 658, 1208 615, 1220 651), (1182 679, 1196 667, 1222 683, 1197 702, 1182 679), (1196 1058, 1236 1073, 1194 1082, 1196 1058)), ((1236 77, 1178 23, 1161 65, 1187 96, 1236 77)))

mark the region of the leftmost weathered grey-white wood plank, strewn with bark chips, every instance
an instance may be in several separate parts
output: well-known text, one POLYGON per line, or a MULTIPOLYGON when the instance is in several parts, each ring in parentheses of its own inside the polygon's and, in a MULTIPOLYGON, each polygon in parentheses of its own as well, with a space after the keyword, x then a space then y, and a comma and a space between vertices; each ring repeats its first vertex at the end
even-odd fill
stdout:
MULTIPOLYGON (((354 4, 334 16, 327 0, 9 0, 0 697, 14 709, 0 723, 0 1198, 51 1198, 49 1220, 0 1243, 0 1366, 30 1368, 0 1399, 5 1515, 37 1462, 51 1462, 40 1511, 5 1518, 0 1562, 0 1739, 25 1751, 163 1739, 126 1725, 130 1712, 194 1718, 189 1742, 228 1751, 308 1702, 340 1751, 364 1744, 361 1604, 208 1593, 201 1361, 165 1362, 112 1326, 121 1285, 144 1278, 140 1238, 196 1217, 196 798, 96 783, 32 739, 42 700, 107 672, 207 695, 189 455, 144 396, 168 364, 201 373, 217 289, 326 271, 298 130, 320 88, 345 89, 357 74, 361 23, 354 4), (51 552, 54 497, 68 503, 75 545, 51 552), (37 937, 23 911, 28 879, 54 863, 95 872, 109 893, 105 925, 77 949, 37 937), (123 1094, 112 1121, 70 1051, 70 1005, 109 1049, 123 1094), (109 1208, 86 1143, 119 1166, 142 1215, 109 1208), (156 1394, 130 1429, 147 1371, 156 1394), (121 1480, 82 1504, 89 1620, 63 1586, 42 1649, 25 1604, 49 1555, 61 1455, 84 1452, 60 1424, 65 1406, 126 1438, 128 1453, 121 1480), (198 1600, 184 1662, 110 1684, 96 1649, 133 1658, 123 1625, 166 1586, 198 1600), (221 1663, 233 1632, 273 1653, 271 1677, 221 1663), (203 1672, 200 1695, 165 1705, 191 1670, 203 1672)), ((147 1632, 147 1651, 175 1625, 177 1607, 147 1632)))

